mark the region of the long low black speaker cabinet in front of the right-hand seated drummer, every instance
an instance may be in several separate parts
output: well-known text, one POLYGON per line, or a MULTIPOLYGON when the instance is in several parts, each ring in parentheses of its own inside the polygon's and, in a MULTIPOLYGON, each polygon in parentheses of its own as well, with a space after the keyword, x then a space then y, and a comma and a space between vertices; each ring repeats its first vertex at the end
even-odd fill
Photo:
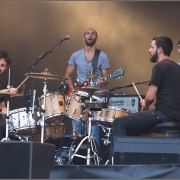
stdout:
POLYGON ((115 137, 114 165, 180 164, 180 139, 115 137))

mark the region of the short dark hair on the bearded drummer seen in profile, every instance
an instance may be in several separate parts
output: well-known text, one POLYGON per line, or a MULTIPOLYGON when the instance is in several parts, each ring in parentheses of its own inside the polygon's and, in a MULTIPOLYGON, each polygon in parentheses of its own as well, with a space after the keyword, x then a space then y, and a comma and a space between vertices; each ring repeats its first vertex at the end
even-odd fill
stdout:
POLYGON ((170 56, 173 49, 173 42, 167 36, 157 36, 153 40, 156 41, 157 48, 161 47, 164 51, 164 55, 170 56))

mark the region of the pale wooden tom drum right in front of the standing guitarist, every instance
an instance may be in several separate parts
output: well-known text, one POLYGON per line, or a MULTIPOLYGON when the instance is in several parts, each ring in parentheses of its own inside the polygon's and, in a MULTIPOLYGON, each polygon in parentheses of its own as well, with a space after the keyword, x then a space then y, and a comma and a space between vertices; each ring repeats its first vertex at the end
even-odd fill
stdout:
POLYGON ((84 91, 73 92, 66 104, 65 115, 74 119, 74 120, 88 120, 89 109, 85 108, 82 112, 81 105, 82 103, 89 103, 89 94, 84 91))

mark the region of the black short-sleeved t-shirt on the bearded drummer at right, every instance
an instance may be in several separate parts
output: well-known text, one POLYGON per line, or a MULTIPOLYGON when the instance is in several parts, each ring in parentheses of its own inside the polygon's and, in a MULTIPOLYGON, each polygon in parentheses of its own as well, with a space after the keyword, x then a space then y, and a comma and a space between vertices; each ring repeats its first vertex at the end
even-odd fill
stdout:
POLYGON ((158 87, 156 109, 180 121, 180 66, 171 60, 156 63, 150 84, 158 87))

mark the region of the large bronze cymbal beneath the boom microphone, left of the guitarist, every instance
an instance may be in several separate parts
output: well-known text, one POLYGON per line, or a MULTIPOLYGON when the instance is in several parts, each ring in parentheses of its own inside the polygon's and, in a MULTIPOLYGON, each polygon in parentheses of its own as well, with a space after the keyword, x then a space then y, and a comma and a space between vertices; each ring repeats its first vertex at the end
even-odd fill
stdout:
POLYGON ((62 76, 51 74, 47 69, 45 69, 45 71, 41 73, 33 73, 33 72, 25 73, 25 76, 29 76, 29 77, 37 78, 37 79, 51 79, 51 80, 63 78, 62 76))

